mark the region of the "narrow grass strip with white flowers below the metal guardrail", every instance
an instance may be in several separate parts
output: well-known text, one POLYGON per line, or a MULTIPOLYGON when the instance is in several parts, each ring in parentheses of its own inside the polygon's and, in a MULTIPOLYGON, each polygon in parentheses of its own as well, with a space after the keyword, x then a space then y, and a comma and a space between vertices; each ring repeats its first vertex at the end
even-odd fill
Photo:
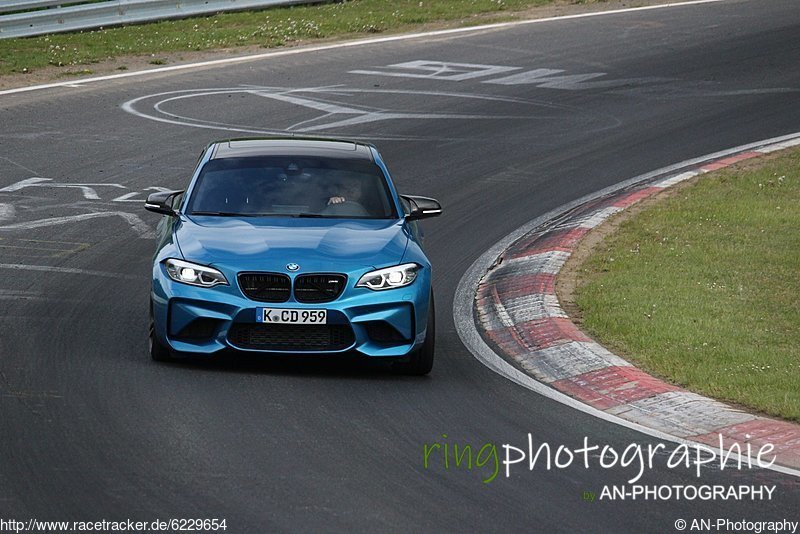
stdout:
POLYGON ((308 39, 403 31, 433 22, 469 24, 470 19, 486 20, 477 15, 488 15, 492 20, 508 18, 515 10, 552 3, 553 0, 352 0, 3 39, 0 75, 27 73, 46 66, 88 65, 130 55, 158 56, 253 45, 269 48, 308 39))

